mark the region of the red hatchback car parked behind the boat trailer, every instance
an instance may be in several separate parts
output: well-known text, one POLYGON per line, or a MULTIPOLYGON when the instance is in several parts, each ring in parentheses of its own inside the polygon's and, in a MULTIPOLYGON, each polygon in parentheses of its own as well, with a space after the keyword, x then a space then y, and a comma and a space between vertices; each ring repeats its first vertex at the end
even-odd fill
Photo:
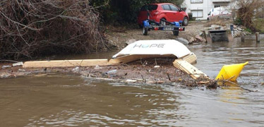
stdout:
POLYGON ((148 11, 150 13, 150 20, 155 20, 158 23, 164 25, 161 21, 163 18, 169 22, 179 22, 182 21, 182 25, 188 25, 188 14, 182 11, 174 4, 161 3, 161 4, 148 4, 140 9, 138 14, 138 25, 143 25, 143 20, 148 19, 148 11))

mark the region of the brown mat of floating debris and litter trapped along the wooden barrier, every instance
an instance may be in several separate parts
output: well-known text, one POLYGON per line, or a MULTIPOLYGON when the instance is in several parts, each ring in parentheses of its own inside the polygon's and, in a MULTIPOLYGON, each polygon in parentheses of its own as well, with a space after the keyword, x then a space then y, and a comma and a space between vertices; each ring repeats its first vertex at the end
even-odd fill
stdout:
MULTIPOLYGON (((89 66, 71 68, 22 68, 16 66, 0 70, 0 78, 16 78, 26 75, 47 75, 67 73, 81 75, 96 80, 112 80, 122 83, 169 84, 196 87, 217 87, 214 80, 200 78, 194 80, 190 75, 172 65, 174 59, 141 59, 118 66, 89 66)), ((2 64, 3 66, 6 64, 2 64)))

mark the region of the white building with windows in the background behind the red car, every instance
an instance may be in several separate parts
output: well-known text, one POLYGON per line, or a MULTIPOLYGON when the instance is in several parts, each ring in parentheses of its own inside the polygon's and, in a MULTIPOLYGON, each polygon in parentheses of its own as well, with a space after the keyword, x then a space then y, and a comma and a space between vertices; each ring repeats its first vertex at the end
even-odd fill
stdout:
POLYGON ((207 20, 211 8, 229 6, 232 0, 185 0, 187 13, 193 13, 196 20, 207 20))

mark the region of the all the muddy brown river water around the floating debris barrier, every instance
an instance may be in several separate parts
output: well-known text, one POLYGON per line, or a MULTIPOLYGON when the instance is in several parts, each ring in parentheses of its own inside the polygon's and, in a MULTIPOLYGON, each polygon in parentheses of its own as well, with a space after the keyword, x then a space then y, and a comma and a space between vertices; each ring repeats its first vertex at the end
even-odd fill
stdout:
POLYGON ((195 66, 211 78, 224 64, 249 61, 238 84, 258 91, 236 85, 206 90, 109 83, 59 74, 2 79, 0 126, 264 126, 264 41, 188 48, 198 56, 195 66))

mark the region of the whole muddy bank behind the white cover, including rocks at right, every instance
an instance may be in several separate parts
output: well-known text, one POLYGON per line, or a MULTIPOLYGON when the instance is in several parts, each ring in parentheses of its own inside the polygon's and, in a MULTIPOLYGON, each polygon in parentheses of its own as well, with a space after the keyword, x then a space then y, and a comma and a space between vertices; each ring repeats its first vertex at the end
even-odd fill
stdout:
MULTIPOLYGON (((185 26, 185 31, 179 32, 178 36, 173 35, 172 31, 163 30, 151 30, 145 36, 142 33, 142 29, 137 26, 108 26, 105 35, 115 49, 123 49, 127 44, 136 40, 178 40, 184 44, 201 44, 207 41, 210 42, 210 39, 204 37, 204 30, 230 31, 231 24, 234 24, 233 20, 192 21, 188 26, 185 26)), ((245 31, 245 29, 243 26, 234 25, 234 37, 250 35, 251 33, 245 31)))

